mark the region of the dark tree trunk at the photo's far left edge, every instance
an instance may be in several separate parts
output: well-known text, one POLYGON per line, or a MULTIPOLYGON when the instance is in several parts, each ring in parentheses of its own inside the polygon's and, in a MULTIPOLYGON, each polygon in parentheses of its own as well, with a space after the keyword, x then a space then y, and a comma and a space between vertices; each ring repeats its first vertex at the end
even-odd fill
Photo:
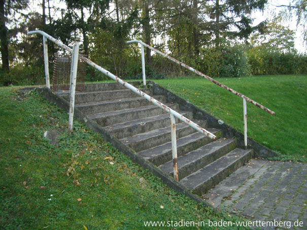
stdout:
POLYGON ((4 12, 4 1, 0 0, 0 45, 2 69, 9 72, 9 45, 8 45, 8 29, 6 27, 6 17, 4 12))

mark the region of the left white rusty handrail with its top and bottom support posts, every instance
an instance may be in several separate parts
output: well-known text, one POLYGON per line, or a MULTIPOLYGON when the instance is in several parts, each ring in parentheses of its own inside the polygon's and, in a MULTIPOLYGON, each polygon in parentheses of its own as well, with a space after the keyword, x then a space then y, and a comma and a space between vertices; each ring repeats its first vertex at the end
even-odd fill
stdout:
MULTIPOLYGON (((65 49, 65 50, 67 50, 67 51, 69 51, 71 53, 73 52, 73 49, 69 48, 68 46, 65 46, 59 40, 54 39, 54 37, 50 36, 49 34, 47 34, 44 31, 41 31, 41 30, 29 31, 27 34, 28 35, 41 34, 41 35, 44 36, 44 40, 43 40, 44 42, 46 41, 46 38, 47 38, 50 41, 52 41, 53 43, 55 43, 58 46, 62 47, 63 49, 65 49)), ((47 46, 47 43, 46 43, 46 46, 47 46)), ((45 48, 45 44, 44 44, 44 48, 45 48)), ((44 52, 45 52, 45 49, 44 49, 44 52)), ((46 70, 46 62, 48 64, 48 55, 44 55, 44 58, 45 58, 45 70, 46 70)), ((141 90, 135 88, 134 86, 130 85, 129 83, 121 80, 120 78, 118 78, 118 76, 116 76, 113 73, 107 71, 103 67, 97 65, 96 63, 92 62, 91 60, 89 60, 87 58, 85 58, 85 62, 87 64, 89 64, 90 66, 94 67, 95 69, 99 70, 100 72, 103 72, 104 74, 109 76, 109 78, 117 81, 119 84, 121 84, 124 87, 132 90, 134 93, 139 94, 140 96, 144 97, 148 101, 152 102, 153 104, 157 105, 158 107, 162 108, 164 111, 166 111, 166 112, 168 112, 170 114, 171 135, 172 135, 172 151, 173 151, 173 162, 174 162, 174 177, 175 177, 175 179, 177 181, 179 179, 178 179, 178 166, 177 166, 177 144, 176 144, 176 123, 175 123, 175 118, 177 118, 180 121, 184 122, 185 124, 189 125, 190 127, 195 129, 196 131, 206 135, 207 137, 209 137, 209 138, 211 138, 213 140, 217 139, 217 137, 214 134, 212 134, 211 132, 209 132, 208 130, 201 128, 199 125, 195 124, 191 120, 189 120, 186 117, 182 116, 180 113, 176 112, 172 108, 169 108, 168 106, 164 105, 163 103, 159 102, 158 100, 154 99, 153 97, 149 96, 148 94, 146 94, 146 93, 142 92, 141 90)), ((47 71, 49 71, 48 68, 47 68, 47 71)), ((49 81, 49 74, 48 74, 48 81, 49 81)), ((47 73, 46 73, 46 82, 47 82, 47 73)), ((49 83, 48 84, 46 83, 46 85, 47 85, 47 87, 49 85, 48 88, 50 88, 50 84, 49 83)))

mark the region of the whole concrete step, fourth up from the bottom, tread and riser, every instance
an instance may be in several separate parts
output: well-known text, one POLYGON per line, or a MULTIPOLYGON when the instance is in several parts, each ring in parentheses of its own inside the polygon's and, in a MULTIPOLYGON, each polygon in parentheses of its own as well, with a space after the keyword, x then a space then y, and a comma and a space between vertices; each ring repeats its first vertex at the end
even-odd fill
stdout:
MULTIPOLYGON (((200 127, 206 126, 206 121, 195 121, 200 127)), ((195 130, 185 123, 179 123, 176 125, 176 137, 181 138, 187 135, 195 133, 195 130)), ((152 148, 166 142, 171 141, 170 135, 170 122, 168 127, 151 130, 146 133, 137 134, 131 137, 121 139, 121 141, 134 149, 136 152, 152 148)))

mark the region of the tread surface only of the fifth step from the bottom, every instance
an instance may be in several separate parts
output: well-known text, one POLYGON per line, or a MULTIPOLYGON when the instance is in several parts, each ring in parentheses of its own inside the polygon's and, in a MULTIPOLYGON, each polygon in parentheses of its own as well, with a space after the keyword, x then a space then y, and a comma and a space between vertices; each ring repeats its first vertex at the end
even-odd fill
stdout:
MULTIPOLYGON (((188 114, 189 111, 180 111, 180 114, 185 116, 185 114, 188 114)), ((146 125, 146 123, 153 122, 153 121, 159 121, 161 119, 169 118, 168 113, 160 114, 157 116, 153 117, 147 117, 147 118, 142 118, 142 119, 137 119, 129 122, 123 122, 123 123, 118 123, 110 126, 106 126, 105 129, 108 130, 109 132, 112 132, 112 130, 117 130, 117 129, 124 129, 127 127, 135 126, 135 125, 146 125)), ((170 122, 169 122, 170 123, 170 122)))

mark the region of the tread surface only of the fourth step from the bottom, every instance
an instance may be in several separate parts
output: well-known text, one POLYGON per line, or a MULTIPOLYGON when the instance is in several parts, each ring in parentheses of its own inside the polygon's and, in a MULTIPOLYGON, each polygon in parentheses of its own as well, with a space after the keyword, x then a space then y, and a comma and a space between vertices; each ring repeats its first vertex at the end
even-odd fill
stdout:
MULTIPOLYGON (((196 123, 198 125, 199 125, 200 122, 201 121, 194 121, 194 123, 196 123)), ((188 127, 190 127, 190 126, 185 124, 185 123, 176 124, 176 130, 185 129, 185 128, 188 128, 188 127)), ((131 137, 126 137, 126 138, 121 139, 121 141, 123 141, 127 145, 127 144, 131 144, 131 143, 134 143, 134 142, 140 142, 140 141, 149 139, 149 138, 157 136, 157 135, 162 135, 164 133, 170 134, 170 132, 171 132, 171 130, 170 130, 170 122, 169 122, 169 126, 167 126, 167 127, 151 130, 151 131, 148 131, 146 133, 136 134, 136 135, 131 136, 131 137)))

